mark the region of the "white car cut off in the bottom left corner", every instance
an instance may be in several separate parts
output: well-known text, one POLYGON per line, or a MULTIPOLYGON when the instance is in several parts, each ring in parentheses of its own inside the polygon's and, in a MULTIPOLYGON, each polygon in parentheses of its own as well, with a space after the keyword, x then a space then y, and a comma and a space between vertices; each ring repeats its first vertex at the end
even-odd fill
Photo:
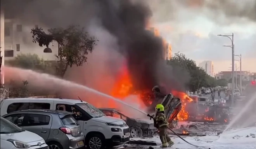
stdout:
POLYGON ((1 116, 1 149, 49 149, 39 135, 26 131, 1 116))

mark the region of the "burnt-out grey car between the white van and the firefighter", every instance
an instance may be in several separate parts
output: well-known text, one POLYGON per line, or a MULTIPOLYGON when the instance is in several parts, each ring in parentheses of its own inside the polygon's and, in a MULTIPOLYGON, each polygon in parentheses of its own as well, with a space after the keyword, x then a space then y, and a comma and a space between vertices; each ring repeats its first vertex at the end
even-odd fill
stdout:
POLYGON ((154 121, 152 120, 130 118, 114 108, 99 108, 99 110, 107 116, 123 119, 130 127, 130 136, 132 138, 157 134, 157 128, 154 127, 154 121))

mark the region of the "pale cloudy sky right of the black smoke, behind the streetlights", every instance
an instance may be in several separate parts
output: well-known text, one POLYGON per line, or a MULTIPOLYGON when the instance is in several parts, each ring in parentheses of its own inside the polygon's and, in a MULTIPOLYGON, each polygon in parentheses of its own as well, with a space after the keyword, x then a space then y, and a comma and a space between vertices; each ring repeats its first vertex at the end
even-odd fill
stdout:
POLYGON ((216 35, 234 33, 235 54, 242 54, 242 69, 256 72, 253 65, 256 0, 152 0, 150 3, 155 24, 173 45, 173 52, 185 53, 197 63, 212 60, 214 73, 228 71, 231 49, 222 45, 231 42, 216 35))

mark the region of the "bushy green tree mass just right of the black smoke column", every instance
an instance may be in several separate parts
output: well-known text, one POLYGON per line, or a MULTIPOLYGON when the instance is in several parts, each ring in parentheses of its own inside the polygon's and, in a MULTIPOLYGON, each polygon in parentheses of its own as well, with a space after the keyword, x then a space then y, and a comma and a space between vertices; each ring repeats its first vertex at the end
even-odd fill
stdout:
POLYGON ((168 65, 179 66, 190 74, 190 81, 187 84, 190 91, 196 91, 201 87, 215 86, 215 79, 210 77, 206 72, 197 67, 195 61, 186 58, 182 53, 175 53, 175 55, 168 61, 168 65))

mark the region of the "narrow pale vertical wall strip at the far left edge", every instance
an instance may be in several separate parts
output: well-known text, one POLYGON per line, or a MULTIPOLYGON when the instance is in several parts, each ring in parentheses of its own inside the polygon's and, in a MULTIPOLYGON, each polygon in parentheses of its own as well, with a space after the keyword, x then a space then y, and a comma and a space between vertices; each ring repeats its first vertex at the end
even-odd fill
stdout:
MULTIPOLYGON (((0 47, 1 47, 1 56, 3 57, 2 59, 2 67, 4 66, 4 13, 3 10, 0 10, 0 47)), ((1 67, 1 85, 4 84, 4 72, 2 71, 1 67)))

